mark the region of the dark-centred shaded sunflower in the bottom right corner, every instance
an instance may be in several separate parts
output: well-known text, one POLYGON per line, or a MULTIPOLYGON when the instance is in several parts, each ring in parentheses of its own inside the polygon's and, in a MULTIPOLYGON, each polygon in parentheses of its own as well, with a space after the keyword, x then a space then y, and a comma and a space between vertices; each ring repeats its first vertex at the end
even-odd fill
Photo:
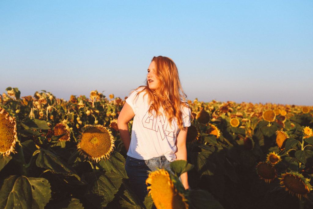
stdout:
POLYGON ((289 194, 294 194, 298 198, 304 196, 308 198, 307 194, 312 190, 310 183, 303 177, 302 174, 297 172, 286 172, 281 175, 280 186, 285 187, 285 191, 289 191, 289 194))

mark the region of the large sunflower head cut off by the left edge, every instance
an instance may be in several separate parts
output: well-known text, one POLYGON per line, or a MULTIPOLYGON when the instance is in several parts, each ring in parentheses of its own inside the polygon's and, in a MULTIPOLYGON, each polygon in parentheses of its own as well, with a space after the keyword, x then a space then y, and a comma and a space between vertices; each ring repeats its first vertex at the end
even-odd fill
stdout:
POLYGON ((16 140, 18 140, 16 119, 0 107, 0 154, 3 157, 9 156, 11 152, 16 153, 14 150, 16 140))

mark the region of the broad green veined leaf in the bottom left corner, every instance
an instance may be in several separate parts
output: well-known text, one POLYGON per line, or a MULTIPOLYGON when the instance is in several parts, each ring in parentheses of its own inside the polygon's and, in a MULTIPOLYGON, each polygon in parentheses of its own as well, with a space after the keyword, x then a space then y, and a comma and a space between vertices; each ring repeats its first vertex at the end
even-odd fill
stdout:
POLYGON ((50 197, 48 180, 11 175, 1 187, 0 208, 44 208, 50 197))

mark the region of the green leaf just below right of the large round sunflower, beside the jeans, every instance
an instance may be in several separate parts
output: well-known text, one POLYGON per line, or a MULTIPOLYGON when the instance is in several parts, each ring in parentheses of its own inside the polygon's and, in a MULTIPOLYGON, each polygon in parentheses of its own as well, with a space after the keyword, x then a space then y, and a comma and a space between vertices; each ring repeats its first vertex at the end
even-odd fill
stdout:
POLYGON ((116 151, 112 152, 109 159, 103 159, 98 164, 107 172, 113 172, 122 178, 128 178, 125 170, 125 158, 116 151))

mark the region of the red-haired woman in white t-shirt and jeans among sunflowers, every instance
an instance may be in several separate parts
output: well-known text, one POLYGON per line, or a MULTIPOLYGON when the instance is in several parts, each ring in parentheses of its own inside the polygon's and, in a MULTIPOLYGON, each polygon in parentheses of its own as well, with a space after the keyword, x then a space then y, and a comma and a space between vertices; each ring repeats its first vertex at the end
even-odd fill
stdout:
MULTIPOLYGON (((187 160, 186 136, 191 125, 191 109, 179 90, 182 91, 182 86, 173 60, 153 57, 146 86, 139 86, 129 95, 117 119, 127 151, 125 169, 129 183, 142 202, 148 193, 145 183, 148 170, 158 167, 173 173, 170 162, 187 160), (127 124, 132 118, 130 137, 127 124)), ((179 179, 185 189, 190 189, 187 172, 179 179)))

